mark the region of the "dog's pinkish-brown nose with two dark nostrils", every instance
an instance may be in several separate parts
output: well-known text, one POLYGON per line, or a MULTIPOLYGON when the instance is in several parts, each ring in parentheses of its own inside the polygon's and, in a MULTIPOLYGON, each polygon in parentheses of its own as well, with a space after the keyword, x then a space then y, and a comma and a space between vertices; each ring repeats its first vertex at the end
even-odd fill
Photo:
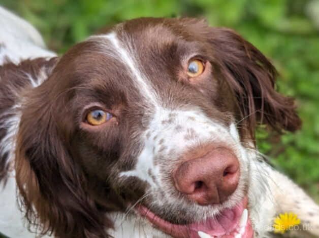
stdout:
POLYGON ((226 201, 237 188, 239 162, 226 148, 187 160, 173 174, 175 187, 190 200, 205 206, 226 201))

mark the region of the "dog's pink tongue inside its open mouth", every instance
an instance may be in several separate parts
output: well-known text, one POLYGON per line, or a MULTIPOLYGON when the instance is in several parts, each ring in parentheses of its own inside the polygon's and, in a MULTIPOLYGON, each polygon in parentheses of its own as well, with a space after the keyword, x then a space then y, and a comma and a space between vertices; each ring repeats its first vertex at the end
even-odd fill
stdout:
POLYGON ((238 205, 235 208, 224 210, 215 218, 207 219, 203 223, 189 224, 189 230, 196 232, 196 235, 198 231, 204 231, 207 234, 216 236, 224 235, 229 231, 233 231, 237 227, 243 210, 243 205, 238 205))

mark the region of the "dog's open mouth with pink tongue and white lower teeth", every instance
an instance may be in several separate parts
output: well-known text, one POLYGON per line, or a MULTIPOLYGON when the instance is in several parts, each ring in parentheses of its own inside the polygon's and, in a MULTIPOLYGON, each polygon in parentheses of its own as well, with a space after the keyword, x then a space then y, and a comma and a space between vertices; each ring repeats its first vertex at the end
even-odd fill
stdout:
POLYGON ((143 205, 137 212, 151 222, 157 229, 176 237, 190 238, 252 238, 253 230, 248 217, 247 197, 231 209, 225 209, 213 218, 201 223, 186 225, 173 224, 162 219, 143 205))

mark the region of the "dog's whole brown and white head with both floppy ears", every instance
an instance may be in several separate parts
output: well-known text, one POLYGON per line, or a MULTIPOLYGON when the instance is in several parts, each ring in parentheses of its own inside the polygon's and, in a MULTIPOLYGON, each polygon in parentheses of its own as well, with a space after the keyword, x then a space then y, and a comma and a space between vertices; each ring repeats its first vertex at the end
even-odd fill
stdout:
POLYGON ((251 237, 256 124, 300 124, 274 79, 256 48, 201 20, 137 19, 90 37, 25 98, 16 169, 27 215, 35 206, 68 237, 105 235, 106 211, 136 211, 174 237, 251 237))

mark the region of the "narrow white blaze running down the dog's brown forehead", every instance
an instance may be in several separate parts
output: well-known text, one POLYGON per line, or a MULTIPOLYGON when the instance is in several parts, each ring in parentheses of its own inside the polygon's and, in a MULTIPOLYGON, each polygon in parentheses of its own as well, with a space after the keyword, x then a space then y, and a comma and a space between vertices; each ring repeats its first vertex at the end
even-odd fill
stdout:
POLYGON ((132 73, 133 82, 140 90, 141 95, 154 107, 158 106, 159 103, 157 100, 156 92, 150 85, 151 83, 147 81, 147 77, 143 74, 142 66, 138 64, 138 54, 134 51, 132 40, 127 38, 127 41, 120 42, 115 32, 111 32, 109 34, 101 36, 93 36, 91 38, 97 37, 108 39, 115 50, 114 53, 116 54, 116 57, 118 57, 132 73))

